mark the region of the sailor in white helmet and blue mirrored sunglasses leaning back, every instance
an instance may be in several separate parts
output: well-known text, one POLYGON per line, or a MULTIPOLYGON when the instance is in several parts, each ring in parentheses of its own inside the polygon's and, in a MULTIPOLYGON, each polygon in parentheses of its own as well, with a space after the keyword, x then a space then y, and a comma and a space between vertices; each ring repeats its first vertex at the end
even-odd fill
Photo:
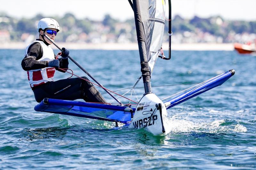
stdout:
MULTIPOLYGON (((61 57, 56 59, 51 41, 44 38, 44 33, 52 40, 60 31, 58 22, 52 18, 43 18, 38 22, 39 38, 32 42, 21 61, 22 68, 27 71, 28 81, 34 92, 36 102, 44 98, 76 100, 84 99, 86 102, 106 103, 99 91, 92 83, 80 78, 70 78, 53 81, 55 71, 64 72, 59 68, 68 68, 69 51, 62 48, 61 57)), ((89 80, 87 77, 82 77, 89 80)))

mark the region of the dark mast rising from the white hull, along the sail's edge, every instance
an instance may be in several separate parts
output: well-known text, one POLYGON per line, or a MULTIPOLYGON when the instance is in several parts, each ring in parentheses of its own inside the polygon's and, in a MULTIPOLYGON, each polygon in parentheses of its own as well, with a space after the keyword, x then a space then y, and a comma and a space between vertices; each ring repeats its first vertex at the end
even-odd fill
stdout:
MULTIPOLYGON (((140 3, 148 3, 148 1, 140 1, 140 3)), ((134 19, 135 19, 135 26, 137 32, 137 40, 139 46, 139 53, 140 53, 140 67, 141 73, 144 83, 145 93, 151 92, 151 81, 150 81, 150 71, 149 65, 147 61, 147 51, 146 51, 146 41, 143 29, 143 23, 141 19, 141 12, 140 12, 140 4, 139 0, 133 0, 133 11, 134 11, 134 19)))

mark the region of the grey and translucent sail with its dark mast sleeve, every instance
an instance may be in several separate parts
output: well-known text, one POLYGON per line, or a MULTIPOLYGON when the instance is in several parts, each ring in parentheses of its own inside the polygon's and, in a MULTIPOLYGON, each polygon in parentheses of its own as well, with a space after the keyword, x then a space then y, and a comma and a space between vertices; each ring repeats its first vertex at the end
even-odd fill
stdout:
POLYGON ((164 0, 134 0, 133 11, 145 93, 151 92, 150 77, 164 35, 164 0))

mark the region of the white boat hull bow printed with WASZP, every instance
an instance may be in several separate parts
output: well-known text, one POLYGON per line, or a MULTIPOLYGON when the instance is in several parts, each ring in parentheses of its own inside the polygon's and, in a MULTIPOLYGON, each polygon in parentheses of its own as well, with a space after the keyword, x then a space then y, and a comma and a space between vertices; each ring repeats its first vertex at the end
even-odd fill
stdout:
POLYGON ((166 119, 164 103, 155 94, 149 93, 140 99, 129 128, 144 128, 153 135, 166 135, 166 119))

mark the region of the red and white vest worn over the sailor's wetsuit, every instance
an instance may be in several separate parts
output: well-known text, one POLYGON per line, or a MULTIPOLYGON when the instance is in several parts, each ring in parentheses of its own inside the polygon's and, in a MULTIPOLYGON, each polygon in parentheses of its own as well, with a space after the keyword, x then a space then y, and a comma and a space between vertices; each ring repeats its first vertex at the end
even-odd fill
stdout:
MULTIPOLYGON (((44 44, 43 41, 34 41, 34 42, 39 42, 43 48, 43 56, 42 56, 42 58, 40 58, 37 61, 52 61, 55 59, 54 53, 53 53, 53 50, 51 47, 44 44)), ((31 43, 31 44, 33 44, 33 43, 31 43)), ((27 46, 27 48, 26 48, 25 55, 27 55, 27 53, 28 53, 29 46, 27 46)), ((30 70, 30 71, 27 71, 27 73, 28 73, 28 81, 29 81, 30 87, 32 88, 32 87, 38 86, 40 84, 44 84, 48 81, 53 81, 55 68, 54 67, 45 67, 42 69, 30 70)))

